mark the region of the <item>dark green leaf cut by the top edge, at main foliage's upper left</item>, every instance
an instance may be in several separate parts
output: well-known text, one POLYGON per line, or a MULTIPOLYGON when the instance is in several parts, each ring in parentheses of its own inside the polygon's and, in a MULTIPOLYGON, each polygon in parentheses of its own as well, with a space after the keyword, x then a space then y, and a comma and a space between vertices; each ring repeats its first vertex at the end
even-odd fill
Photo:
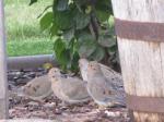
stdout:
POLYGON ((57 10, 65 11, 69 8, 68 5, 69 0, 58 0, 57 10))

